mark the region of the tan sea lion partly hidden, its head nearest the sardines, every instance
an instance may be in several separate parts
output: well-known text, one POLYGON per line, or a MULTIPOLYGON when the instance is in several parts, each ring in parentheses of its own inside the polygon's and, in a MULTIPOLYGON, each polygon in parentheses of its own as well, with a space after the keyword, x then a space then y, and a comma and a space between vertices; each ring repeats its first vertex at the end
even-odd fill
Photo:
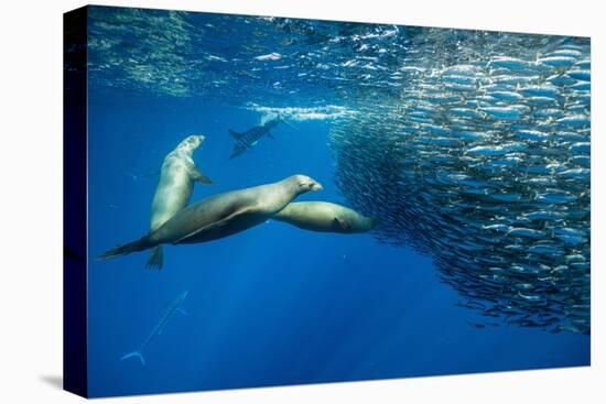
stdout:
POLYGON ((334 233, 365 232, 377 225, 377 219, 326 201, 291 203, 274 215, 273 219, 305 230, 334 233))

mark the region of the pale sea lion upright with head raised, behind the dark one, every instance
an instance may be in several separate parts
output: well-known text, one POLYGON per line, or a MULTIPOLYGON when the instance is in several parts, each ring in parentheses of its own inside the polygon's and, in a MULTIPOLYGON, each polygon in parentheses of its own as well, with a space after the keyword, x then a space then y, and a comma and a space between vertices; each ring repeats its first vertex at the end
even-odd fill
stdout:
MULTIPOLYGON (((204 142, 203 135, 191 135, 184 139, 170 152, 160 173, 160 181, 153 195, 150 232, 164 225, 174 214, 183 209, 192 197, 194 182, 210 184, 212 181, 196 167, 192 155, 204 142)), ((147 269, 162 269, 162 247, 155 247, 145 265, 147 269)))

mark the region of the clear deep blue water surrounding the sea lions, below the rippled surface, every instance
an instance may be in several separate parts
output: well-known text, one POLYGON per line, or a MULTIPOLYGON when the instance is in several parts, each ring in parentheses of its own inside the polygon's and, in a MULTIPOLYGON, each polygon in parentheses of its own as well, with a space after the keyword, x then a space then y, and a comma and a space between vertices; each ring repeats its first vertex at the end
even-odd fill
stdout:
MULTIPOLYGON (((192 19, 187 30, 195 30, 201 18, 192 19)), ((97 40, 110 39, 99 35, 97 40)), ((215 52, 216 56, 235 57, 241 40, 234 39, 234 46, 228 46, 228 39, 221 37, 220 46, 215 45, 226 51, 215 52)), ((122 37, 115 52, 113 56, 121 52, 128 58, 128 41, 122 37)), ((101 63, 102 55, 91 57, 101 63)), ((165 68, 153 57, 145 62, 165 68)), ((156 72, 150 74, 158 80, 156 72)), ((205 88, 204 94, 133 91, 109 86, 111 75, 116 83, 128 77, 123 72, 106 72, 91 75, 89 81, 91 259, 148 232, 162 161, 190 134, 206 137, 194 160, 214 181, 207 186, 196 184, 192 201, 306 174, 321 182, 324 190, 297 200, 348 205, 334 182, 335 161, 328 146, 332 119, 279 125, 275 139, 263 138, 227 161, 234 143, 227 130, 244 131, 264 117, 258 108, 242 106, 302 107, 310 103, 305 103, 309 98, 288 91, 252 96, 235 91, 228 99, 219 86, 215 92, 212 86, 205 88)), ((220 69, 215 75, 220 76, 220 69)), ((230 88, 237 88, 237 78, 229 75, 235 80, 230 88)), ((280 75, 289 77, 289 73, 280 75)), ((299 89, 305 95, 323 90, 310 84, 299 89)), ((323 105, 350 107, 334 88, 325 90, 323 105)), ((476 312, 456 305, 461 296, 440 282, 431 256, 407 245, 380 243, 371 233, 316 233, 268 220, 226 239, 167 245, 164 254, 161 271, 144 270, 148 252, 89 262, 91 396, 589 363, 588 336, 505 323, 481 326, 476 312), (145 365, 136 358, 121 361, 184 291, 188 291, 182 306, 186 315, 176 314, 145 347, 145 365)))

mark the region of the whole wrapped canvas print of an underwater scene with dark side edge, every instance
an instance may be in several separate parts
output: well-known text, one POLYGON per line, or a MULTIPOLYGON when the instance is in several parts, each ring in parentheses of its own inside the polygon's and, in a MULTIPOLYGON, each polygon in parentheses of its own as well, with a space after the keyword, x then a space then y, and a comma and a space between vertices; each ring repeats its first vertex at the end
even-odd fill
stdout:
POLYGON ((68 390, 589 364, 588 37, 110 7, 65 30, 68 390))

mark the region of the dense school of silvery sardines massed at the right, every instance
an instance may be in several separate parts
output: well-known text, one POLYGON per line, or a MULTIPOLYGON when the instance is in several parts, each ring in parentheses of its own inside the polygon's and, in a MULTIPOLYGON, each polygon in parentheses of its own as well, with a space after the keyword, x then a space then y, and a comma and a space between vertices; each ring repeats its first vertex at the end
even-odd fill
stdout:
POLYGON ((588 334, 589 41, 428 29, 399 72, 332 130, 342 193, 486 324, 588 334))

